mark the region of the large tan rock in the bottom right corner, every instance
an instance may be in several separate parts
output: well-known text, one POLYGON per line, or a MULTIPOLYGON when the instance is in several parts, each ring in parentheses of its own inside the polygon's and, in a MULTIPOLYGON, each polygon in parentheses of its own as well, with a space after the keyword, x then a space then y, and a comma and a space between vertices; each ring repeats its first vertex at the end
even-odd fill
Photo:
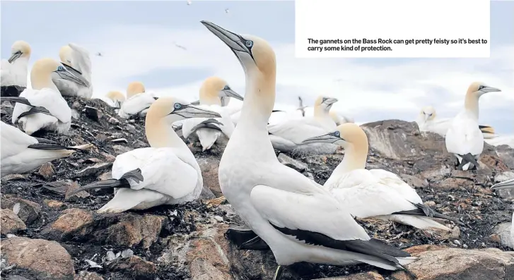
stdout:
MULTIPOLYGON (((501 250, 445 248, 412 255, 419 260, 407 264, 407 269, 419 280, 508 280, 514 275, 514 257, 501 250)), ((395 272, 392 277, 411 279, 405 272, 395 272)))

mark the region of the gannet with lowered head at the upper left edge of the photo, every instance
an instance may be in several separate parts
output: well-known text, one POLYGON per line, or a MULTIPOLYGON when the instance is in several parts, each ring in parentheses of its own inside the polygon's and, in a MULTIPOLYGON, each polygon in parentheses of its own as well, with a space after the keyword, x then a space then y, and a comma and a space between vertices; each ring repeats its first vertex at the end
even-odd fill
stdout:
POLYGON ((11 57, 1 61, 1 96, 19 96, 21 88, 27 87, 27 66, 30 59, 30 45, 16 41, 11 47, 11 57))

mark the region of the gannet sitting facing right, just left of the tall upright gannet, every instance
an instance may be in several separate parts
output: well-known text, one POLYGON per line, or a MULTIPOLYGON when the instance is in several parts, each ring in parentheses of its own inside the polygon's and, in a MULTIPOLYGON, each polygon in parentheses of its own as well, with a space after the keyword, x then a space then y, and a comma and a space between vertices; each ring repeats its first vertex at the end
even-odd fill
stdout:
POLYGON ((148 109, 145 132, 151 147, 119 154, 112 165, 112 179, 91 183, 74 193, 92 188, 115 188, 115 197, 99 213, 148 209, 182 204, 199 197, 201 170, 184 141, 171 128, 183 118, 217 118, 220 115, 172 97, 161 97, 148 109))

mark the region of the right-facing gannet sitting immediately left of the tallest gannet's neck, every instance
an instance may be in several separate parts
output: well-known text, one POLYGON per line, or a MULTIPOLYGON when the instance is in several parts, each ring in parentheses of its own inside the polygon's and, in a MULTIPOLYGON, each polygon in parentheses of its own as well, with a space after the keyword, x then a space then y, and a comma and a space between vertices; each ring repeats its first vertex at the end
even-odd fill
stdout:
POLYGON ((199 141, 202 151, 211 149, 216 140, 221 140, 222 135, 223 142, 226 143, 235 127, 230 118, 233 108, 226 106, 229 97, 243 100, 242 96, 230 89, 225 80, 218 77, 207 78, 200 87, 199 106, 218 112, 221 118, 188 118, 182 121, 182 136, 192 142, 199 141))

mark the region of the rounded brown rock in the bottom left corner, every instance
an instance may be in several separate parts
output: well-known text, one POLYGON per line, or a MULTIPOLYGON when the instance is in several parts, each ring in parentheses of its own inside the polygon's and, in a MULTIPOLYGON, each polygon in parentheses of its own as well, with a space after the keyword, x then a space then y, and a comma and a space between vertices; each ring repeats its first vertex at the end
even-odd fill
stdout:
POLYGON ((8 238, 1 243, 1 254, 9 264, 24 269, 21 276, 40 280, 74 280, 70 255, 59 243, 25 237, 8 238))

